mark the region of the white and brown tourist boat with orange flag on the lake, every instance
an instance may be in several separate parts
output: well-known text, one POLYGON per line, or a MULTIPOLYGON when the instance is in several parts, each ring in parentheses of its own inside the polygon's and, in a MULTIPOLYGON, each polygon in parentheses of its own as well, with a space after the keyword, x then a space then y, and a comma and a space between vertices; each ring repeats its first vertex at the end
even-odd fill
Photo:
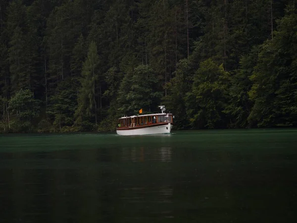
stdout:
MULTIPOLYGON (((118 135, 170 134, 173 121, 171 113, 165 113, 165 107, 159 106, 162 113, 124 116, 119 118, 116 128, 118 135)), ((140 110, 142 111, 142 110, 140 110)))

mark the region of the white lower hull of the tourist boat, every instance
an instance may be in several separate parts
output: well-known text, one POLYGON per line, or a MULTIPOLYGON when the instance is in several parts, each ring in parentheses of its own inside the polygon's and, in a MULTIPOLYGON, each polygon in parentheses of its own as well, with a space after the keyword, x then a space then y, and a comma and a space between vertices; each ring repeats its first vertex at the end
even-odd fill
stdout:
POLYGON ((117 128, 118 135, 152 135, 152 134, 170 134, 172 128, 171 123, 161 123, 155 125, 148 125, 134 128, 117 128))

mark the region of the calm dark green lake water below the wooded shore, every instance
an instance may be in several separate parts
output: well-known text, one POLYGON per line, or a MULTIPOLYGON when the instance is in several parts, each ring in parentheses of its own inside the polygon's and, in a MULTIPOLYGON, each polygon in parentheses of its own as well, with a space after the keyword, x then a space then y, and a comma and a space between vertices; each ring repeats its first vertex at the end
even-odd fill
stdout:
POLYGON ((1 223, 296 222, 297 129, 0 135, 1 223))

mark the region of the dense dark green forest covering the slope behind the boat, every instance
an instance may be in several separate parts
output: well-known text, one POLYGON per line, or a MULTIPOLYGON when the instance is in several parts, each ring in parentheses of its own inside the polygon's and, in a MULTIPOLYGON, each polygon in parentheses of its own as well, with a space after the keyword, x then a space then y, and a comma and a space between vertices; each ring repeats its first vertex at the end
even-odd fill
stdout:
POLYGON ((297 126, 296 0, 0 0, 0 132, 297 126))

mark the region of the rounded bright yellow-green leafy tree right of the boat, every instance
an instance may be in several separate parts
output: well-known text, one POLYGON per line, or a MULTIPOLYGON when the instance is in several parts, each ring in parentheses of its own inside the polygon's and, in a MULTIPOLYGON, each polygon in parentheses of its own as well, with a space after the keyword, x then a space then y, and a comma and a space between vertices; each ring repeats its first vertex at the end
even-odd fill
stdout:
POLYGON ((211 59, 200 63, 194 76, 192 91, 187 94, 190 122, 200 128, 226 125, 223 109, 227 103, 230 75, 211 59))

